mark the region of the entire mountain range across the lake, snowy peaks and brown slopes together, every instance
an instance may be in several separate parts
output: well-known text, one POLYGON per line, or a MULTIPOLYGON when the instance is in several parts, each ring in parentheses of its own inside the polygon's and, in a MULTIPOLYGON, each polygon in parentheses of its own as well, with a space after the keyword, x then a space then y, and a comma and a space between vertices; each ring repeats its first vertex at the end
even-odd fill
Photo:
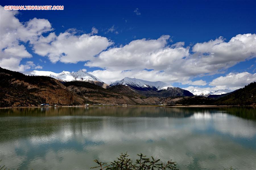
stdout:
MULTIPOLYGON (((111 84, 82 70, 61 73, 10 71, 0 67, 0 107, 50 105, 174 105, 174 104, 255 104, 256 82, 234 92, 218 90, 207 98, 157 81, 125 77, 111 84), (26 75, 25 75, 26 74, 26 75), (32 75, 32 76, 31 76, 32 75), (37 75, 37 76, 34 76, 37 75), (226 93, 216 95, 219 93, 226 93), (241 95, 241 96, 240 96, 241 95), (231 97, 234 98, 230 100, 231 97), (238 100, 236 98, 241 98, 238 100)), ((194 90, 196 92, 196 90, 194 90)), ((198 92, 198 91, 197 91, 198 92)))

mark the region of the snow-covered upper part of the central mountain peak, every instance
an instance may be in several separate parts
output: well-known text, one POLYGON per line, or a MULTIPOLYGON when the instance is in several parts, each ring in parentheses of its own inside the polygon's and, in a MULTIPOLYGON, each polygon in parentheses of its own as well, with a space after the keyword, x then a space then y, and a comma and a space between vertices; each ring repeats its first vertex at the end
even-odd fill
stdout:
POLYGON ((161 82, 161 81, 157 81, 157 82, 150 82, 150 81, 146 81, 146 80, 141 80, 138 78, 129 78, 129 77, 125 77, 120 81, 115 81, 113 83, 110 83, 110 86, 117 86, 117 85, 125 85, 125 86, 131 86, 133 88, 136 89, 144 89, 144 88, 152 88, 155 90, 167 90, 167 88, 173 88, 173 86, 171 86, 170 84, 161 82))

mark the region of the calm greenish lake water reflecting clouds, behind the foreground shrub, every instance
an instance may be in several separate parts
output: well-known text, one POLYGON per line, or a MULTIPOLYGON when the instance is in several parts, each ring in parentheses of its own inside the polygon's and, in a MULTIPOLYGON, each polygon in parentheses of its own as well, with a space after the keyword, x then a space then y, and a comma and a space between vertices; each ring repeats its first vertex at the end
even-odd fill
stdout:
POLYGON ((247 107, 0 109, 0 165, 90 169, 128 152, 180 169, 256 169, 255 119, 247 107))

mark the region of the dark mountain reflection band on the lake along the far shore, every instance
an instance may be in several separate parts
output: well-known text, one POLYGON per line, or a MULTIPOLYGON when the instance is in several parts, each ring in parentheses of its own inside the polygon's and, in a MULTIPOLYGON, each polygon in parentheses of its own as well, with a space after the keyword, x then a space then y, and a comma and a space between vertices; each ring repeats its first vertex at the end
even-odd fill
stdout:
POLYGON ((115 117, 190 117, 194 113, 225 112, 256 120, 256 107, 41 107, 0 109, 1 116, 90 115, 115 117))

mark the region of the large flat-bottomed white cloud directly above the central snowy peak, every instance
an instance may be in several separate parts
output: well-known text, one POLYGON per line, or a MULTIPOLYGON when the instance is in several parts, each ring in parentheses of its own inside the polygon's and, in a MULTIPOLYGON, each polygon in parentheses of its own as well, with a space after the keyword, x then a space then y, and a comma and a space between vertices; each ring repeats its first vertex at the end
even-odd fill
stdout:
POLYGON ((101 67, 108 70, 129 69, 166 69, 176 60, 189 55, 187 48, 166 48, 170 36, 164 35, 157 40, 134 40, 123 47, 103 51, 85 66, 101 67), (164 65, 164 67, 163 67, 164 65))

